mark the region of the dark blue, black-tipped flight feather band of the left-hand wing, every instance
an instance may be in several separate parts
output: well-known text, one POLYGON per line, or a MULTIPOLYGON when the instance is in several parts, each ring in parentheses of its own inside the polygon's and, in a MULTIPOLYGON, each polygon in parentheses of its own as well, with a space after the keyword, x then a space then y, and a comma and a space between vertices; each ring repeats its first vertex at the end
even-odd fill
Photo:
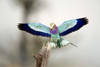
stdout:
POLYGON ((45 32, 42 32, 42 31, 37 31, 37 30, 34 30, 33 28, 31 28, 28 23, 20 23, 18 25, 18 28, 20 30, 23 30, 23 31, 26 31, 28 33, 31 33, 33 35, 37 35, 37 36, 44 36, 44 37, 51 37, 51 35, 49 33, 45 33, 45 32))

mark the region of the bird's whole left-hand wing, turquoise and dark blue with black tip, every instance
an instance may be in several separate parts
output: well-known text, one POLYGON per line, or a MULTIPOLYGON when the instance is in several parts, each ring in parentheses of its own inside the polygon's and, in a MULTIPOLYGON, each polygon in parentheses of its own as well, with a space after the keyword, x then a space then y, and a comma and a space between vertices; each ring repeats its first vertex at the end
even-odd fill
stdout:
POLYGON ((51 36, 49 32, 49 27, 40 23, 19 23, 18 28, 37 36, 51 36))

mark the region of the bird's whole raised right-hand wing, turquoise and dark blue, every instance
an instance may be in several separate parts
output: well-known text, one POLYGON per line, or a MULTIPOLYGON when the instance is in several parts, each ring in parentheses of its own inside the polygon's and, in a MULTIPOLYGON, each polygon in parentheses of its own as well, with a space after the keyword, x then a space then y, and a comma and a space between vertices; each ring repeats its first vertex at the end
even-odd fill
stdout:
POLYGON ((86 17, 65 21, 58 27, 59 34, 60 36, 67 35, 71 32, 80 29, 82 26, 86 25, 87 23, 88 23, 88 19, 86 17))

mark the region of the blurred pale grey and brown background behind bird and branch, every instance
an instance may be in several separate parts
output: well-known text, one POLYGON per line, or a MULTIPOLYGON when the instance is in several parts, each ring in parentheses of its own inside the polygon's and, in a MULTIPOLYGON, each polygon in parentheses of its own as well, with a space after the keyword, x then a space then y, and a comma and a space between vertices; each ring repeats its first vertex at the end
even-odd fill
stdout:
POLYGON ((18 30, 18 23, 59 26, 87 17, 89 24, 63 38, 68 45, 52 49, 48 67, 100 67, 100 0, 0 0, 0 67, 35 67, 45 37, 18 30))

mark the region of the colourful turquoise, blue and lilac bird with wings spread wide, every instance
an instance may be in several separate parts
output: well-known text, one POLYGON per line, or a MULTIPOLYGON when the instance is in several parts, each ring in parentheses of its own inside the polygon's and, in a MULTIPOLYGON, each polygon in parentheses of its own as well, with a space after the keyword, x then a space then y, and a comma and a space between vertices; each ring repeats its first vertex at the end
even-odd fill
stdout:
POLYGON ((64 21, 59 26, 57 26, 55 23, 50 23, 50 27, 41 23, 19 23, 18 28, 19 30, 26 31, 32 35, 49 37, 51 46, 54 48, 60 48, 68 44, 74 45, 66 39, 63 39, 61 36, 77 31, 86 24, 88 24, 88 19, 87 17, 83 17, 64 21))

